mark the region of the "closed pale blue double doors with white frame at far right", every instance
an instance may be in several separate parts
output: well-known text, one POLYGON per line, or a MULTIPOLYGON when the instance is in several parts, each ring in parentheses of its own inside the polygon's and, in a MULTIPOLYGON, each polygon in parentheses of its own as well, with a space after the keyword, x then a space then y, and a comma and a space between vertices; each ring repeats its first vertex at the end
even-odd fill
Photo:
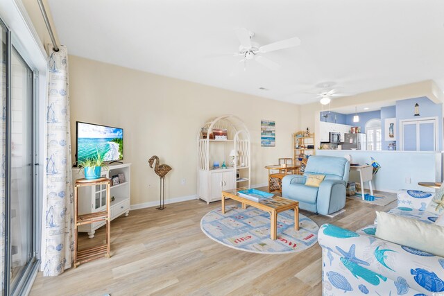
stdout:
POLYGON ((401 149, 405 151, 438 150, 436 119, 401 121, 401 149))

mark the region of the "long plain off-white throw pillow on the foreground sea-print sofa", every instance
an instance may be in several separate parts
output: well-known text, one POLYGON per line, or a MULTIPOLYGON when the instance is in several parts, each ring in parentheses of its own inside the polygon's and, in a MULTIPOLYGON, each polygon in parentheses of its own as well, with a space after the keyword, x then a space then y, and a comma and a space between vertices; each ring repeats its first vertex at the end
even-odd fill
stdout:
POLYGON ((376 217, 377 238, 444 256, 444 227, 379 211, 376 217))

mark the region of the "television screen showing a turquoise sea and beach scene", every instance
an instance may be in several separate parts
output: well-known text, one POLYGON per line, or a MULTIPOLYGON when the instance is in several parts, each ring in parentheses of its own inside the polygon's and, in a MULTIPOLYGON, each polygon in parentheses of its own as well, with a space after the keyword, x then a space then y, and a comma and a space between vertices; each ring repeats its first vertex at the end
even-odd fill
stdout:
POLYGON ((105 162, 123 159, 123 129, 77 121, 77 162, 100 153, 105 162))

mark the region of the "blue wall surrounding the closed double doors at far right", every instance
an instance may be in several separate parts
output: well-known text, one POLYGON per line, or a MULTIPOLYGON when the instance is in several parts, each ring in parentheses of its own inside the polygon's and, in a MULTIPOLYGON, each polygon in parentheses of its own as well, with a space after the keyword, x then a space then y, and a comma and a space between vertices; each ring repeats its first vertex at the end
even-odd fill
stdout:
MULTIPOLYGON (((419 120, 425 117, 438 117, 438 150, 443 147, 443 104, 435 104, 429 98, 423 96, 420 98, 409 98, 408 100, 396 101, 396 124, 398 132, 396 133, 397 146, 400 143, 400 120, 412 119, 419 120), (415 104, 419 105, 420 116, 413 116, 415 113, 415 104)), ((406 143, 405 146, 411 146, 413 143, 406 143)), ((398 148, 398 147, 397 147, 398 148)))

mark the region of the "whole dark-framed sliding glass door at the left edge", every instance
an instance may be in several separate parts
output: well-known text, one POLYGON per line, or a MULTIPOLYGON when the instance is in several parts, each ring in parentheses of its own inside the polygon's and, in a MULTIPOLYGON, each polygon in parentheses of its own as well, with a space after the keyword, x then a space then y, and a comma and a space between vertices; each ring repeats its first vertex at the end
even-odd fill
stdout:
POLYGON ((21 295, 35 268, 34 74, 0 20, 0 271, 2 295, 21 295))

